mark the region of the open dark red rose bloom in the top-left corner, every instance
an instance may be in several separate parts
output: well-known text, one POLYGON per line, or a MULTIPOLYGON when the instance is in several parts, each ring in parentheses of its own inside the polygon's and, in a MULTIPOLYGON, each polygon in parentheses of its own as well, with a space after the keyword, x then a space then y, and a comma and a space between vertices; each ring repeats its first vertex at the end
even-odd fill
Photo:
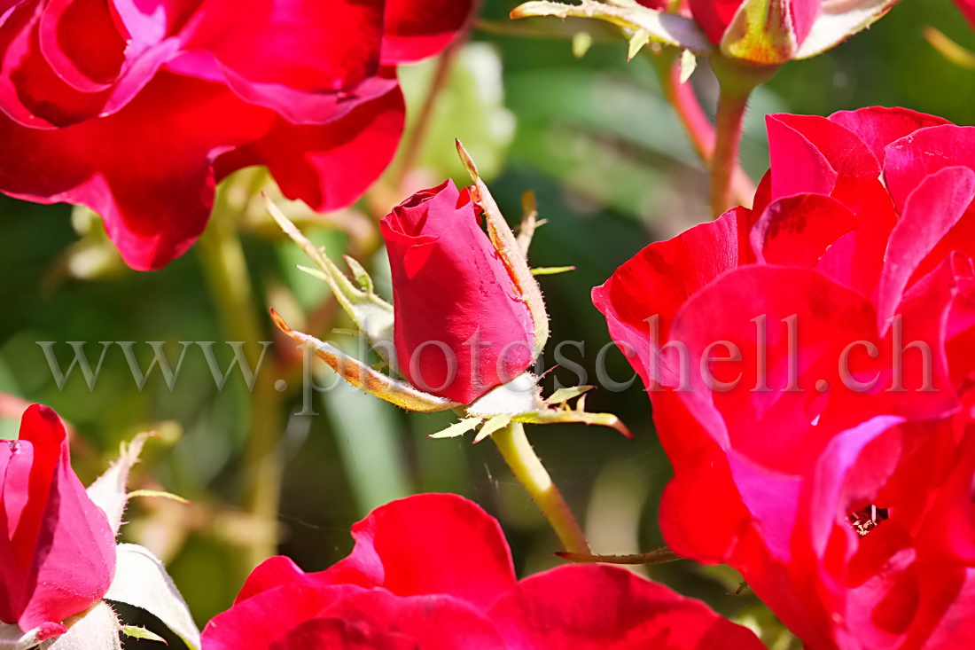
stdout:
POLYGON ((0 191, 92 208, 139 269, 185 252, 249 165, 345 207, 399 142, 395 66, 440 52, 473 4, 0 3, 0 191))

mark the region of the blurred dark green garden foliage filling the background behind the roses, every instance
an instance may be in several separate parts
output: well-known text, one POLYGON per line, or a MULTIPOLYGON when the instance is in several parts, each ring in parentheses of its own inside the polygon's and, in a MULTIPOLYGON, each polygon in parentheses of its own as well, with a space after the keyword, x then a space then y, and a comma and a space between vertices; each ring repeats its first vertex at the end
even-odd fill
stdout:
MULTIPOLYGON (((581 342, 584 353, 572 346, 563 351, 592 381, 597 353, 608 336, 589 301, 590 289, 644 245, 706 219, 707 178, 645 57, 625 61, 625 42, 607 40, 611 32, 605 30, 581 59, 572 56, 565 36, 498 33, 515 4, 487 2, 483 20, 493 26, 475 31, 475 47, 457 57, 430 140, 418 157, 424 169, 416 180, 436 178, 433 183, 439 183, 450 174, 463 183, 450 142, 460 136, 494 177, 492 191, 509 219, 520 215, 521 194, 536 192, 541 217, 549 223, 536 234, 532 264, 577 267, 541 280, 553 323, 545 367, 555 365, 553 350, 559 342, 581 342)), ((944 61, 927 45, 921 30, 929 24, 962 45, 975 46, 975 35, 949 0, 905 0, 874 28, 827 55, 785 65, 761 89, 750 112, 743 149, 750 174, 758 178, 767 164, 766 112, 828 114, 899 104, 959 124, 975 122, 975 73, 944 61)), ((423 89, 435 67, 427 63, 404 71, 414 111, 424 101, 423 89)), ((691 83, 711 110, 715 87, 709 75, 702 64, 691 83)), ((168 561, 202 625, 226 608, 240 587, 228 548, 249 534, 237 509, 251 398, 247 386, 235 374, 219 390, 196 347, 187 352, 172 391, 158 371, 139 390, 121 349, 112 346, 95 389, 77 372, 59 389, 37 343, 57 342, 65 368, 70 360, 66 342, 88 342, 89 356, 97 360, 98 342, 134 341, 144 369, 149 359, 144 342, 167 342, 165 349, 175 361, 178 342, 224 341, 198 254, 191 252, 154 273, 95 264, 116 270, 81 280, 68 272, 71 264, 64 257, 77 238, 70 208, 0 197, 0 212, 0 391, 49 404, 76 427, 76 467, 86 482, 121 440, 141 429, 160 432, 148 445, 136 480, 161 485, 194 505, 142 500, 131 511, 124 536, 168 561)), ((333 257, 342 251, 345 236, 328 227, 311 229, 329 242, 333 257)), ((261 236, 269 232, 273 228, 263 223, 246 237, 255 295, 272 296, 268 303, 279 306, 273 297, 284 288, 297 304, 310 308, 325 296, 324 288, 294 270, 301 255, 290 242, 261 236)), ((94 236, 92 248, 114 256, 110 249, 105 253, 101 235, 94 236)), ((380 278, 383 258, 379 251, 371 261, 380 278)), ((381 289, 388 291, 388 286, 381 289)), ((266 313, 264 305, 260 312, 266 313)), ((270 321, 263 320, 271 341, 270 321)), ((346 325, 338 322, 338 327, 346 325)), ((215 349, 226 368, 229 348, 217 344, 215 349)), ((617 381, 633 375, 615 349, 606 363, 617 381)), ((556 369, 546 385, 573 383, 570 370, 556 369)), ((318 367, 314 379, 319 386, 335 380, 318 367)), ((311 395, 319 415, 293 415, 301 410, 303 397, 296 390, 287 394, 292 415, 282 423, 280 522, 280 549, 303 568, 329 566, 351 548, 352 522, 379 503, 417 491, 458 492, 498 515, 520 572, 556 563, 554 535, 489 443, 472 446, 470 436, 425 436, 448 425, 448 416, 408 415, 347 391, 311 395)), ((594 538, 597 551, 657 548, 662 539, 655 511, 670 468, 653 434, 648 400, 638 382, 623 392, 594 391, 589 404, 591 410, 621 416, 636 439, 583 426, 529 427, 528 435, 569 503, 600 531, 594 538)), ((16 430, 9 422, 2 427, 0 433, 8 436, 16 430)), ((737 587, 733 572, 681 562, 651 568, 649 574, 724 614, 766 626, 768 615, 753 596, 747 591, 730 595, 737 587)), ((766 640, 774 647, 789 642, 766 640)))

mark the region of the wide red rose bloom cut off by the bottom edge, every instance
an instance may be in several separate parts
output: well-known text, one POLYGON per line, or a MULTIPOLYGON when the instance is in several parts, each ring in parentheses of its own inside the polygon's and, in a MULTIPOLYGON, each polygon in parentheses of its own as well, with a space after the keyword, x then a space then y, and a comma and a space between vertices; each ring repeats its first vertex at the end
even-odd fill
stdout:
POLYGON ((272 557, 203 631, 204 650, 761 650, 750 630, 628 571, 564 566, 518 582, 497 521, 447 494, 376 508, 327 571, 272 557))

